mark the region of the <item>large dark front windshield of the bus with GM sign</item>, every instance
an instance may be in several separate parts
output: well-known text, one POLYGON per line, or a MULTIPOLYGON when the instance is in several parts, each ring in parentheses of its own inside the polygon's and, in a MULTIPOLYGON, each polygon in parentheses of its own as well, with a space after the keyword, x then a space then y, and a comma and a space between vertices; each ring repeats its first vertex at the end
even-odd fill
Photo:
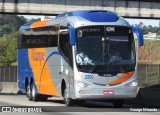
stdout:
POLYGON ((76 63, 79 71, 122 73, 135 70, 133 32, 124 26, 77 28, 76 63))

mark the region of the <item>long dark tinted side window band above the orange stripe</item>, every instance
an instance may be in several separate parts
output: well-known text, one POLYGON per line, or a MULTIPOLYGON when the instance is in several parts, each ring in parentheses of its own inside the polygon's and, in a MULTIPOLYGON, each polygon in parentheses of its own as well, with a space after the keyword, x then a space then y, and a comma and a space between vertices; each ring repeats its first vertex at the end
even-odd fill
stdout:
POLYGON ((58 46, 58 29, 45 27, 21 30, 18 48, 43 48, 58 46))

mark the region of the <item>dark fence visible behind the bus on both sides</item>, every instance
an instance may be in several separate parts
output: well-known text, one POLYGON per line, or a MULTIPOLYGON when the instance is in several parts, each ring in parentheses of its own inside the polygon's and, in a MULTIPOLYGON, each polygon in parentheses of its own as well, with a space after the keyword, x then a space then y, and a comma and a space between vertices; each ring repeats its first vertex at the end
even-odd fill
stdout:
MULTIPOLYGON (((160 65, 139 64, 138 81, 139 81, 139 86, 142 88, 160 84, 160 65)), ((0 82, 17 82, 17 67, 1 66, 0 82)))

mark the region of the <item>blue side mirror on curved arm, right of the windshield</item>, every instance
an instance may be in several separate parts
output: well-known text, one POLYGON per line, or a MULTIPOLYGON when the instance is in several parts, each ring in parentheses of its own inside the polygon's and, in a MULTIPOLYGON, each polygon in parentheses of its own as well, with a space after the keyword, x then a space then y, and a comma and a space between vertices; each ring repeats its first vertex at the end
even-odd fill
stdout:
POLYGON ((132 26, 132 30, 136 33, 138 37, 138 46, 143 46, 143 32, 140 28, 132 26))

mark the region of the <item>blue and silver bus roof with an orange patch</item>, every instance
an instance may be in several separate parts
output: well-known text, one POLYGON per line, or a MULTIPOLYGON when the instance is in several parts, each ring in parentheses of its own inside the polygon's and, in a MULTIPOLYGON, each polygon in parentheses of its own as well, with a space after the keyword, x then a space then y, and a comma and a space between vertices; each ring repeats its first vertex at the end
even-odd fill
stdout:
MULTIPOLYGON (((122 18, 120 18, 116 13, 107 11, 107 10, 80 10, 80 11, 73 11, 73 12, 67 12, 62 13, 56 16, 53 20, 44 20, 44 21, 38 21, 33 23, 27 23, 20 27, 20 30, 24 29, 31 29, 31 28, 39 28, 39 27, 46 27, 46 26, 52 26, 54 24, 61 23, 60 20, 68 18, 70 20, 69 22, 76 23, 76 21, 71 19, 72 17, 77 17, 77 19, 84 19, 90 23, 114 23, 117 25, 121 25, 122 23, 126 23, 126 21, 122 18), (121 21, 118 22, 118 20, 121 19, 121 21)), ((84 21, 83 20, 83 21, 84 21)), ((68 22, 66 22, 68 23, 68 22)), ((99 23, 99 24, 100 24, 99 23)))

